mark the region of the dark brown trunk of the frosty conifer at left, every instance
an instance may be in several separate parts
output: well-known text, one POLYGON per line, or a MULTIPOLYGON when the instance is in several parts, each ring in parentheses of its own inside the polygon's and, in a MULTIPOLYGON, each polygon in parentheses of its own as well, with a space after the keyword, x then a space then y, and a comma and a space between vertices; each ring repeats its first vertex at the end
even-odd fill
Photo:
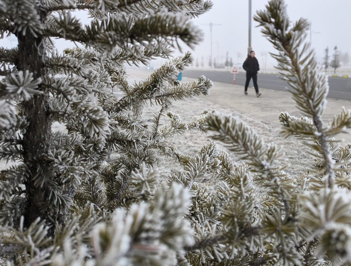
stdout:
MULTIPOLYGON (((18 34, 19 70, 28 69, 34 78, 45 74, 45 42, 39 37, 35 38, 29 31, 23 36, 18 34)), ((39 87, 40 90, 40 87, 39 87)), ((22 112, 27 118, 29 126, 23 135, 24 162, 27 164, 30 175, 25 183, 26 208, 24 211, 25 226, 29 226, 36 218, 47 219, 48 206, 47 185, 34 185, 34 178, 40 173, 38 166, 45 167, 45 154, 51 144, 51 122, 48 113, 48 96, 36 95, 34 98, 22 102, 22 112)), ((40 168, 39 167, 39 168, 40 168)), ((47 219, 50 220, 50 219, 47 219)), ((48 221, 50 222, 50 221, 48 221)))

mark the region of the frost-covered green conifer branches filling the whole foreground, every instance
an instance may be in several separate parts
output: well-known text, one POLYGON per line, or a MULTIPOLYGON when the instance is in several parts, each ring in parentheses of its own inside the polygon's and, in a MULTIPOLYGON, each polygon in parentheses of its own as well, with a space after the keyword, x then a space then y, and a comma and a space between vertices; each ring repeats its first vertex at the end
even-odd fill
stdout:
POLYGON ((128 84, 124 64, 168 58, 200 41, 189 19, 202 0, 0 0, 0 256, 6 265, 351 265, 351 145, 333 137, 351 111, 322 120, 327 78, 284 1, 255 20, 278 53, 284 80, 306 117, 281 113, 282 134, 302 139, 314 162, 289 176, 279 147, 244 121, 204 111, 184 122, 172 102, 209 93, 205 77, 181 84, 190 53, 128 84), (87 10, 83 26, 73 10, 87 10), (84 44, 56 52, 53 38, 84 44), (117 99, 113 88, 124 96, 117 99), (97 99, 92 101, 92 99, 97 99), (151 123, 143 116, 157 104, 151 123), (167 115, 168 123, 163 122, 167 115), (52 124, 65 125, 65 132, 52 124), (171 137, 209 132, 197 155, 171 137), (220 141, 243 160, 234 165, 220 141), (160 156, 183 167, 160 180, 160 156), (200 184, 216 180, 216 189, 200 184))

